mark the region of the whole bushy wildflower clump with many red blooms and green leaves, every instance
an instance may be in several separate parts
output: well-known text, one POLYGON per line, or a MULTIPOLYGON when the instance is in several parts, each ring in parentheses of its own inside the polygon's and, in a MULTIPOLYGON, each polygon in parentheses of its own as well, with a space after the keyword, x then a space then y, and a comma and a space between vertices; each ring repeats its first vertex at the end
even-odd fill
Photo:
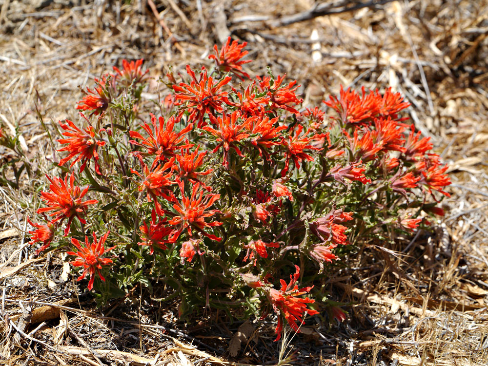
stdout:
POLYGON ((181 318, 275 314, 279 339, 306 315, 345 320, 314 300, 330 269, 385 231, 428 225, 450 181, 399 93, 341 88, 305 108, 296 80, 249 76, 244 46, 229 39, 214 68, 168 73, 159 106, 142 97, 142 60, 96 79, 81 118, 60 121, 69 173, 46 175, 31 243, 68 248, 102 300, 165 278, 181 318))

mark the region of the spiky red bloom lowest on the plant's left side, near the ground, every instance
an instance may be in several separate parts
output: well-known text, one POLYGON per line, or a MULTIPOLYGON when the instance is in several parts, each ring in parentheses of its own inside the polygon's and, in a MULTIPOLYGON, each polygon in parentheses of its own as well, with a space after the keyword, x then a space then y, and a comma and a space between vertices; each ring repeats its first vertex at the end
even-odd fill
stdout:
POLYGON ((66 254, 69 255, 77 255, 74 261, 70 263, 75 267, 83 267, 83 273, 81 276, 77 278, 77 281, 81 281, 87 274, 90 274, 90 280, 88 281, 88 289, 93 289, 93 281, 95 280, 95 271, 100 276, 102 281, 105 281, 105 278, 102 276, 100 270, 102 266, 107 266, 113 261, 110 258, 102 258, 102 255, 109 250, 114 249, 115 247, 105 249, 105 240, 107 240, 108 234, 110 231, 107 231, 105 235, 103 235, 97 243, 97 235, 93 233, 93 243, 88 243, 88 236, 85 236, 85 245, 81 247, 80 242, 75 239, 71 238, 71 243, 78 249, 77 252, 68 251, 66 254))

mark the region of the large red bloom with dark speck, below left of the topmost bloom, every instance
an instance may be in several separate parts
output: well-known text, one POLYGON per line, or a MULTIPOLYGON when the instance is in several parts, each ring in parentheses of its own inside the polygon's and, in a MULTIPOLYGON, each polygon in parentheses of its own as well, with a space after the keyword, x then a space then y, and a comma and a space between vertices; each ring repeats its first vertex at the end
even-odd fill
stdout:
POLYGON ((213 77, 207 77, 207 71, 202 68, 200 73, 200 79, 197 80, 195 73, 190 69, 190 66, 186 65, 186 72, 192 78, 190 85, 180 83, 179 85, 173 85, 173 90, 178 93, 175 94, 175 99, 182 100, 183 102, 175 103, 181 105, 184 101, 188 101, 186 108, 190 111, 189 119, 197 119, 198 128, 202 128, 206 125, 203 121, 205 113, 209 112, 209 115, 215 111, 222 113, 222 102, 229 102, 227 99, 227 92, 221 92, 221 88, 227 84, 232 77, 227 76, 214 85, 213 77))

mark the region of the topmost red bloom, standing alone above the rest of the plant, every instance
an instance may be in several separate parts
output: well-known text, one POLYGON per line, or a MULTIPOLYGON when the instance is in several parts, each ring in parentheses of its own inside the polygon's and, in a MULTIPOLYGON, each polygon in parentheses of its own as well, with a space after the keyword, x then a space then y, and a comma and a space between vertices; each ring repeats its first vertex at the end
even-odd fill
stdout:
POLYGON ((217 67, 226 73, 231 72, 241 80, 244 80, 244 77, 249 78, 249 75, 242 71, 242 65, 251 62, 251 60, 239 61, 248 54, 247 51, 242 50, 246 46, 247 42, 239 44, 239 42, 235 40, 231 44, 230 39, 231 38, 229 37, 227 42, 222 46, 220 54, 217 45, 214 45, 215 55, 209 55, 208 58, 215 60, 217 67))

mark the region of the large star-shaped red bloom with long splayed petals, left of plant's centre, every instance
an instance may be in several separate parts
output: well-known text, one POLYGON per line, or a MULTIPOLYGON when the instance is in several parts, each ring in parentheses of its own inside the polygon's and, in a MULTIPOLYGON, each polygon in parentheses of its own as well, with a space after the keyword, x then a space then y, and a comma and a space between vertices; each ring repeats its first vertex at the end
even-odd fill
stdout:
POLYGON ((213 216, 216 213, 222 213, 220 210, 207 210, 220 198, 220 194, 207 193, 203 195, 203 190, 200 189, 200 183, 197 183, 193 186, 191 196, 188 198, 184 194, 183 182, 180 182, 179 186, 182 198, 181 203, 176 202, 173 205, 173 208, 178 214, 173 216, 168 222, 170 225, 175 226, 169 236, 169 240, 172 242, 176 241, 184 229, 188 231, 188 236, 191 237, 193 235, 192 229, 194 229, 212 240, 221 241, 222 238, 204 231, 205 228, 222 225, 222 222, 218 221, 205 222, 206 217, 213 216))

